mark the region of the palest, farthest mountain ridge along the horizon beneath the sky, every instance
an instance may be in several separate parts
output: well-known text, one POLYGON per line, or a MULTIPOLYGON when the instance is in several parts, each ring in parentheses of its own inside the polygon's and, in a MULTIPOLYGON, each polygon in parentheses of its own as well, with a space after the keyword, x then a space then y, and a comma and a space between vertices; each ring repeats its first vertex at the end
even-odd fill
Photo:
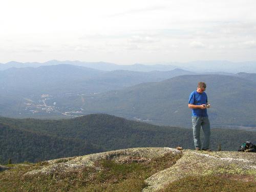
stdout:
POLYGON ((134 65, 116 65, 115 63, 109 62, 82 62, 82 61, 58 61, 50 60, 47 62, 16 62, 11 61, 5 64, 0 63, 0 70, 5 70, 11 67, 23 68, 23 67, 39 67, 49 65, 69 64, 82 67, 88 67, 103 71, 114 71, 114 70, 129 70, 129 71, 170 71, 175 68, 181 68, 183 70, 193 72, 226 72, 226 73, 256 73, 256 61, 244 61, 244 62, 231 62, 231 61, 191 61, 191 62, 165 62, 155 63, 151 65, 139 64, 134 65))

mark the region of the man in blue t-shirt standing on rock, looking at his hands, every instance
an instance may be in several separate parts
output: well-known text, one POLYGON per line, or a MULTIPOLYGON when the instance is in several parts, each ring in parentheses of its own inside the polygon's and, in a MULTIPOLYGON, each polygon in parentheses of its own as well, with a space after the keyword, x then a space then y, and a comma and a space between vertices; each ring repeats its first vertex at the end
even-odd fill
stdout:
POLYGON ((189 96, 188 108, 192 109, 193 135, 196 150, 201 150, 200 129, 204 132, 204 143, 202 150, 211 151, 210 146, 210 122, 207 115, 208 104, 207 95, 204 92, 206 89, 205 82, 199 82, 196 91, 193 91, 189 96))

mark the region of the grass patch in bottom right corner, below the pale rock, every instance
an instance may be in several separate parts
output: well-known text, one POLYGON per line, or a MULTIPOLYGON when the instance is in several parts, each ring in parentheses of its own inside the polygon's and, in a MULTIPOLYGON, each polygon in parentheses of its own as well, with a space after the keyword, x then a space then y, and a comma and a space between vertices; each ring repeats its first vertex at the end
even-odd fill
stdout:
POLYGON ((184 191, 184 192, 205 192, 205 191, 255 191, 256 182, 238 181, 228 179, 225 175, 220 176, 188 176, 174 181, 158 192, 184 191))

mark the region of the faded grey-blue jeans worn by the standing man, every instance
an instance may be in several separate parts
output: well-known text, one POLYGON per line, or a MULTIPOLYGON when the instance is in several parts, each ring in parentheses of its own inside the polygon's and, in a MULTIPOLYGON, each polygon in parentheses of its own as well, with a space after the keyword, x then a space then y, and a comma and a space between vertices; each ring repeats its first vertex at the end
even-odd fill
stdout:
POLYGON ((207 150, 210 146, 210 121, 208 117, 192 116, 193 135, 195 147, 201 148, 200 130, 204 132, 204 144, 202 150, 207 150))

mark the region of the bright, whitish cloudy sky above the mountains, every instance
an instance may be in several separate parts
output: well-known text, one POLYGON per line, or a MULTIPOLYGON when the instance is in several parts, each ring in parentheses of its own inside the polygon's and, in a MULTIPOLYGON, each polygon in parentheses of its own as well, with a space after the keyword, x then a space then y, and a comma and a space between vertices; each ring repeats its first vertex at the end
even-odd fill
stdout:
POLYGON ((254 0, 8 0, 0 63, 256 60, 254 0))

